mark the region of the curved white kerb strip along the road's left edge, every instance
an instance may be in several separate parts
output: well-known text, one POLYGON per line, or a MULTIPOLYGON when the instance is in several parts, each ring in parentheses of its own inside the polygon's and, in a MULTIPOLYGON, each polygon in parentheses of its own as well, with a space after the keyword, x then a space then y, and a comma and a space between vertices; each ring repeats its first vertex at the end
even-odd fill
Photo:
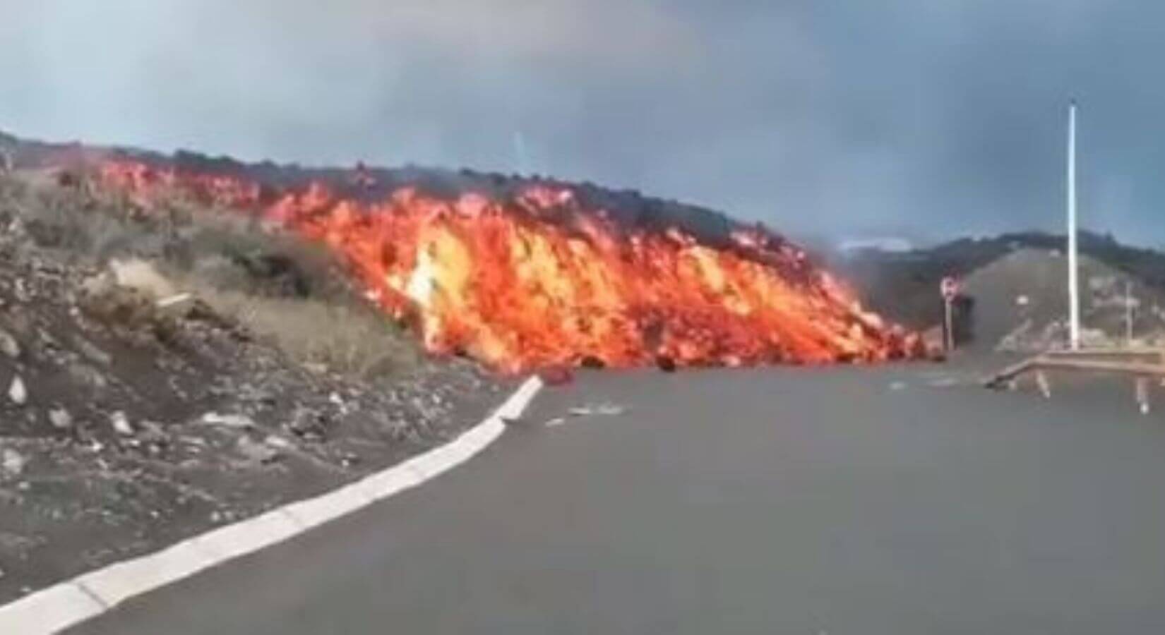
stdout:
POLYGON ((485 421, 456 439, 358 481, 217 527, 153 553, 82 573, 0 606, 0 633, 58 633, 125 600, 284 542, 422 485, 488 447, 506 431, 506 419, 520 417, 542 388, 542 380, 531 376, 485 421))

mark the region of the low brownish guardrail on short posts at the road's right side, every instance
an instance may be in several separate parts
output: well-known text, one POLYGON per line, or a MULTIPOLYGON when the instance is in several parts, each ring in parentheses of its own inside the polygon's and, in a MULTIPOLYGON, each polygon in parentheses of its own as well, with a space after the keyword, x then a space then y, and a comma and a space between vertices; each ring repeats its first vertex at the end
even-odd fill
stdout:
POLYGON ((986 378, 987 388, 1015 387, 1021 375, 1036 374, 1036 384, 1045 397, 1052 396, 1048 371, 1111 373, 1134 380, 1137 405, 1149 414, 1149 381, 1165 380, 1165 350, 1160 348, 1092 348, 1082 351, 1046 351, 1033 358, 1012 364, 986 378))

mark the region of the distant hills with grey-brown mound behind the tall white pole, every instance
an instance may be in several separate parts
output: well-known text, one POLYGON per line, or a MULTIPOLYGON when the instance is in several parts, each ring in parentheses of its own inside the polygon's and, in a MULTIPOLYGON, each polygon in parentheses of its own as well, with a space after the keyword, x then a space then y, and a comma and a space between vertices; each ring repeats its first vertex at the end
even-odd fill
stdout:
MULTIPOLYGON (((995 346, 1026 320, 1032 331, 1043 331, 1066 315, 1064 251, 1062 235, 1024 232, 901 253, 850 252, 835 256, 833 266, 871 309, 917 329, 941 322, 939 282, 959 276, 975 303, 977 345, 995 346)), ((1153 309, 1165 306, 1165 254, 1090 232, 1081 233, 1080 252, 1085 326, 1111 337, 1123 333, 1127 281, 1139 303, 1137 332, 1165 326, 1153 309)))

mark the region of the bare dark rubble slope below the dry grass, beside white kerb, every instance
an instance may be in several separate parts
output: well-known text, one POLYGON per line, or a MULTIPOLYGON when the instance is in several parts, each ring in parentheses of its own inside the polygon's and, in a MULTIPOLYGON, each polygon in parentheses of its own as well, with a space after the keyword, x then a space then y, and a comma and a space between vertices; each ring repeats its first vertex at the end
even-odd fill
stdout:
POLYGON ((52 245, 0 183, 0 604, 397 463, 507 388, 463 360, 306 368, 52 245))

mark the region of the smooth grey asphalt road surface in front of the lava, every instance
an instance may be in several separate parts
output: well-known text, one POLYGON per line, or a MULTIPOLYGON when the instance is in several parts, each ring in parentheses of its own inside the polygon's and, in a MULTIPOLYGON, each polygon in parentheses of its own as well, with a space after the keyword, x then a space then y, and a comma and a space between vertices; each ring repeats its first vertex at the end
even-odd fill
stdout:
POLYGON ((586 375, 453 473, 75 633, 1165 633, 1165 416, 951 373, 586 375))

